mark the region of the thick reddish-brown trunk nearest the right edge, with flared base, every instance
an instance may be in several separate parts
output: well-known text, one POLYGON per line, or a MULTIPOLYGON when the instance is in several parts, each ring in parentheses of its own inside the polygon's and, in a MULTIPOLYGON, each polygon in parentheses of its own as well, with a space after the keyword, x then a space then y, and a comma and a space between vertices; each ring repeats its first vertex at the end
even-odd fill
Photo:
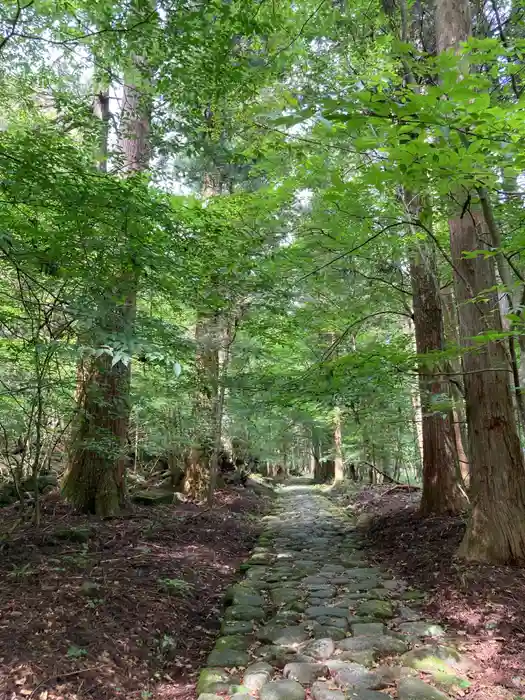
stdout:
MULTIPOLYGON (((468 0, 438 0, 436 28, 439 51, 468 39, 468 0)), ((461 340, 473 348, 464 356, 472 512, 459 554, 490 564, 523 563, 525 467, 507 355, 502 341, 475 341, 480 334, 502 329, 497 294, 487 292, 496 284, 494 259, 463 256, 463 251, 486 246, 487 226, 478 212, 466 212, 451 218, 449 228, 461 340)))

